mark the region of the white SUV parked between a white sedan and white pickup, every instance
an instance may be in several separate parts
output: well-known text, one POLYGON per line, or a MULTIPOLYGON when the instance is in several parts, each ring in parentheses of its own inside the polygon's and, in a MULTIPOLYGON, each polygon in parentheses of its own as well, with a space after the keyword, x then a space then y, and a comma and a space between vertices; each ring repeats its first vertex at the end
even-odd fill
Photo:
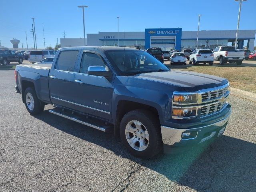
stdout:
POLYGON ((198 63, 209 63, 213 65, 214 55, 210 49, 196 49, 189 56, 189 64, 196 65, 198 63))

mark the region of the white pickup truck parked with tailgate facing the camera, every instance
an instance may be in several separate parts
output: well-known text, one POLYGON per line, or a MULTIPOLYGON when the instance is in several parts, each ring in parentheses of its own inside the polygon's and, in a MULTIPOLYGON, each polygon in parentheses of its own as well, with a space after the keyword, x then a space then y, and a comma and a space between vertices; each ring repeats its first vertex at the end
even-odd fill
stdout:
POLYGON ((236 62, 237 65, 241 65, 244 60, 244 51, 238 51, 234 46, 220 46, 213 50, 214 60, 220 61, 220 65, 224 65, 226 62, 236 62))

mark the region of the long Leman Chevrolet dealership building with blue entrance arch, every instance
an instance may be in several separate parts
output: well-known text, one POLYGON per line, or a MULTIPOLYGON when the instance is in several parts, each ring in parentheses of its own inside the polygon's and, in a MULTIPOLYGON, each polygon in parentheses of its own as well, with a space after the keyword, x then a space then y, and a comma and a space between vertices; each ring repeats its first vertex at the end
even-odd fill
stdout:
MULTIPOLYGON (((238 48, 254 49, 256 30, 239 30, 238 48)), ((235 44, 236 30, 199 31, 198 48, 214 49, 216 46, 235 44)), ((98 32, 87 34, 87 46, 139 46, 141 49, 162 48, 182 50, 196 48, 197 31, 182 31, 182 28, 145 29, 143 32, 98 32)), ((60 39, 61 47, 82 46, 83 38, 60 39)))

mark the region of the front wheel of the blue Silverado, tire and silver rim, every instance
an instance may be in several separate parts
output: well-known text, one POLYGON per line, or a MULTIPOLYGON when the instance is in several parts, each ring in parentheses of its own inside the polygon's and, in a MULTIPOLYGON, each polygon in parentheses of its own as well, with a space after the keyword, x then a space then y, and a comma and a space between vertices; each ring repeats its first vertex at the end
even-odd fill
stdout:
POLYGON ((122 118, 120 138, 126 149, 136 157, 148 159, 162 152, 160 123, 147 110, 133 110, 122 118))

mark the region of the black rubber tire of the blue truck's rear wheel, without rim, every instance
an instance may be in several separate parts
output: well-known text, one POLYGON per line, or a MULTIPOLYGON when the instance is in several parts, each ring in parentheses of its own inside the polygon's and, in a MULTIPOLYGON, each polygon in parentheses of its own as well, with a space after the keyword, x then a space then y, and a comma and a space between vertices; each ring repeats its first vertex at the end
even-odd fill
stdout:
POLYGON ((26 106, 26 108, 27 108, 27 110, 30 114, 39 114, 39 113, 44 111, 44 104, 36 96, 36 92, 35 92, 33 87, 26 88, 23 97, 24 97, 24 101, 25 101, 25 106, 26 106), (30 93, 32 95, 32 99, 34 101, 34 107, 33 108, 30 108, 28 106, 28 102, 26 102, 26 96, 27 96, 28 93, 30 93))

